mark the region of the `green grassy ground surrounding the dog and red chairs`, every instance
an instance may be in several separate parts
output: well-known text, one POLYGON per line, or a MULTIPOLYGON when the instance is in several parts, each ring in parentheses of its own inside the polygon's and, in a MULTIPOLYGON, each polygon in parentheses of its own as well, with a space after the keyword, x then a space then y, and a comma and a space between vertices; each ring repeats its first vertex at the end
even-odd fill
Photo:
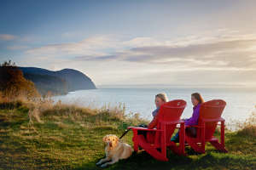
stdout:
MULTIPOLYGON (((101 169, 96 161, 104 156, 102 137, 119 136, 125 127, 141 122, 120 108, 2 102, 0 169, 101 169)), ((189 156, 168 151, 169 161, 162 162, 139 152, 106 169, 256 169, 255 133, 255 127, 226 133, 227 154, 207 145, 207 153, 198 155, 188 147, 189 156)), ((132 145, 131 137, 127 133, 124 141, 132 145)))

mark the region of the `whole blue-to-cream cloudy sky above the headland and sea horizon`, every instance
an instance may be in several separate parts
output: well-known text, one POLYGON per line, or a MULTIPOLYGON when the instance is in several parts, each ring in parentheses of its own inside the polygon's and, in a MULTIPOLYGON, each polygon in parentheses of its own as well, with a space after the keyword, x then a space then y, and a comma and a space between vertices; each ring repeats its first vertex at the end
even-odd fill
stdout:
POLYGON ((1 0, 0 62, 96 86, 256 85, 256 1, 1 0))

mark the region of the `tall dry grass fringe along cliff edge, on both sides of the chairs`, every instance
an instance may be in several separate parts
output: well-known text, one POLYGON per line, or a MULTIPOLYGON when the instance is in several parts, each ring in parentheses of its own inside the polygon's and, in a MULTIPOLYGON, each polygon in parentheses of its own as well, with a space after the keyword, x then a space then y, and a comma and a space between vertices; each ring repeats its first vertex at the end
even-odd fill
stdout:
MULTIPOLYGON (((27 99, 20 95, 15 99, 3 97, 0 94, 0 109, 14 109, 20 105, 25 105, 29 109, 29 122, 44 123, 44 116, 69 116, 74 121, 82 122, 84 117, 94 115, 96 119, 94 124, 101 124, 102 122, 119 120, 126 125, 137 125, 139 123, 148 123, 148 120, 140 117, 139 113, 126 113, 126 106, 124 103, 118 105, 110 105, 110 103, 103 105, 100 108, 93 106, 80 106, 76 104, 67 105, 63 104, 61 100, 54 102, 51 94, 44 96, 44 98, 27 99)), ((248 134, 256 136, 256 112, 253 112, 246 121, 232 120, 231 123, 227 122, 227 129, 239 132, 239 134, 248 134)))

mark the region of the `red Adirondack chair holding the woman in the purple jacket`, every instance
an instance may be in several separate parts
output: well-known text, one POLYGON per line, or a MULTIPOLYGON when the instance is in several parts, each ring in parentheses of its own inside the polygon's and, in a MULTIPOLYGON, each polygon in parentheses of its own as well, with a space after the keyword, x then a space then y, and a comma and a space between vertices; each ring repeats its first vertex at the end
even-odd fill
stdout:
POLYGON ((196 127, 196 137, 189 137, 186 133, 185 141, 199 153, 205 153, 206 142, 210 142, 217 150, 227 152, 224 144, 224 118, 221 117, 226 102, 222 99, 212 99, 201 105, 198 125, 186 126, 196 127), (218 122, 221 122, 218 124, 218 122), (220 143, 213 136, 217 125, 221 126, 220 143))

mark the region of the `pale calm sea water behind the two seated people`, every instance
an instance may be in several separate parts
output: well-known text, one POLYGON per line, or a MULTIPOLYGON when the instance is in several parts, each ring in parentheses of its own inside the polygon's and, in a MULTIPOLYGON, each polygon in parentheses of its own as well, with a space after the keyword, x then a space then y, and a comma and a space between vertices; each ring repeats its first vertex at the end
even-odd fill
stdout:
POLYGON ((125 104, 126 114, 139 113, 140 116, 151 120, 151 113, 155 109, 155 94, 166 93, 169 100, 187 101, 182 117, 188 118, 192 115, 191 94, 195 92, 200 93, 206 101, 224 99, 227 103, 223 113, 226 122, 243 122, 255 111, 256 91, 250 88, 98 88, 70 92, 67 95, 55 96, 53 99, 93 108, 121 103, 125 104))

